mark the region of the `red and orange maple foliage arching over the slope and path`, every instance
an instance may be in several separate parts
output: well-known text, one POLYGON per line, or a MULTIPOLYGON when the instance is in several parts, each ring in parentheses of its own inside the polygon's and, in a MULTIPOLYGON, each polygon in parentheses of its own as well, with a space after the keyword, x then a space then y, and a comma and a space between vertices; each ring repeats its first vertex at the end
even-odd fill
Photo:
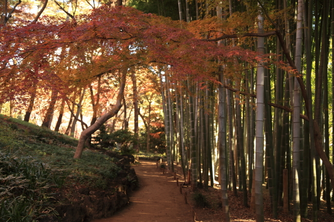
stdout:
POLYGON ((131 7, 103 6, 65 21, 42 17, 38 23, 2 26, 0 102, 26 104, 35 84, 66 95, 101 74, 169 65, 175 78, 215 80, 218 59, 255 62, 256 53, 203 41, 179 22, 131 7))

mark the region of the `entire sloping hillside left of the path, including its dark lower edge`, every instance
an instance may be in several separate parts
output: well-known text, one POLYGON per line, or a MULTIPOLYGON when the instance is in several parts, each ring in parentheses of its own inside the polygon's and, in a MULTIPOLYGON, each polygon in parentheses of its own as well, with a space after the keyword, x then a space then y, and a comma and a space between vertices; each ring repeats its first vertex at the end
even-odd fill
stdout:
POLYGON ((126 191, 136 187, 137 178, 119 162, 123 156, 86 150, 75 160, 76 144, 69 136, 0 115, 0 220, 89 221, 127 204, 126 191))

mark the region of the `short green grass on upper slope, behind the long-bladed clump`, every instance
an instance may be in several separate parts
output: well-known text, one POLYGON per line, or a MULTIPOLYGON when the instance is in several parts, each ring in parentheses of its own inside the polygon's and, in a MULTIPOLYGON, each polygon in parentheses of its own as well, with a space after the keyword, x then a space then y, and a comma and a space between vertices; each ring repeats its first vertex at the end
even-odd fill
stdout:
POLYGON ((0 149, 16 157, 33 156, 66 171, 82 186, 104 189, 107 183, 102 181, 115 178, 120 170, 114 163, 117 159, 90 150, 84 151, 81 159, 73 159, 77 143, 75 138, 0 115, 0 149))

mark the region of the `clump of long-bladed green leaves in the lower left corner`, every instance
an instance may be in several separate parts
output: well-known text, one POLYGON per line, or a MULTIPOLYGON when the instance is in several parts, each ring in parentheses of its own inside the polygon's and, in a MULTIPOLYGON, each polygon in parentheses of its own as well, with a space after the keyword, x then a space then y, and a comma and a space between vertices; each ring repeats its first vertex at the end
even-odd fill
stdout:
POLYGON ((65 177, 32 157, 0 153, 0 219, 35 221, 43 215, 57 215, 49 203, 50 188, 62 186, 65 177))

